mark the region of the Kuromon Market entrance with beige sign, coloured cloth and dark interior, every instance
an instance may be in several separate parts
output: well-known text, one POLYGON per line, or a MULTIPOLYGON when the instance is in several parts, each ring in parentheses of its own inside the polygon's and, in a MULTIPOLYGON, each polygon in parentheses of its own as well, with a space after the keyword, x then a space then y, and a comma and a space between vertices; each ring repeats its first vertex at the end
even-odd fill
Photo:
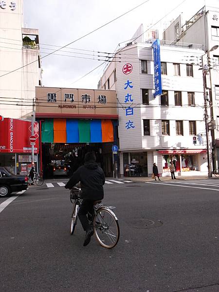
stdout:
POLYGON ((56 175, 56 166, 71 175, 88 151, 112 176, 111 147, 118 144, 116 92, 37 87, 36 98, 44 177, 56 175))

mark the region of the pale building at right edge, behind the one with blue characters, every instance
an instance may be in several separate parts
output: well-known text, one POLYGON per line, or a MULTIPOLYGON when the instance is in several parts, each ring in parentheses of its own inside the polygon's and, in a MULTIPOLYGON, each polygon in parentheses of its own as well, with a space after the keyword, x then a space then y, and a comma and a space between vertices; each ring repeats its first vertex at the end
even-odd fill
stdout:
MULTIPOLYGON (((176 18, 164 31, 164 39, 202 44, 205 52, 219 45, 219 1, 215 1, 214 4, 206 0, 206 6, 184 24, 181 16, 176 18)), ((203 57, 203 62, 204 65, 208 64, 212 68, 209 70, 210 75, 207 76, 206 85, 212 102, 209 121, 215 120, 217 126, 211 131, 212 161, 213 167, 217 168, 219 167, 219 48, 208 52, 203 57)))

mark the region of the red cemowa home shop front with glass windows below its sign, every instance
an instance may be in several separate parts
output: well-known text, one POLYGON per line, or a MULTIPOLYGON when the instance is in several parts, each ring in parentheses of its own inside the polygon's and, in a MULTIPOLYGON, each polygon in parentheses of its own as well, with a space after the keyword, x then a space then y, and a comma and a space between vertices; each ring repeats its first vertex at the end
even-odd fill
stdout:
MULTIPOLYGON (((4 118, 0 122, 0 166, 11 173, 27 175, 31 169, 31 121, 4 118)), ((34 123, 35 167, 38 170, 37 157, 39 153, 39 127, 34 123)))

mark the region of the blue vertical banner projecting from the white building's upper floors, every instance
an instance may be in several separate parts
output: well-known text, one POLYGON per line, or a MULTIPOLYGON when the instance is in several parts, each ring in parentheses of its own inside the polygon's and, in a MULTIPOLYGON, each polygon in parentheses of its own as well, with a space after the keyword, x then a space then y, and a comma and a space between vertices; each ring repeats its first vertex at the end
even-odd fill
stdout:
POLYGON ((162 94, 160 40, 156 39, 152 47, 154 51, 154 97, 156 97, 162 94))

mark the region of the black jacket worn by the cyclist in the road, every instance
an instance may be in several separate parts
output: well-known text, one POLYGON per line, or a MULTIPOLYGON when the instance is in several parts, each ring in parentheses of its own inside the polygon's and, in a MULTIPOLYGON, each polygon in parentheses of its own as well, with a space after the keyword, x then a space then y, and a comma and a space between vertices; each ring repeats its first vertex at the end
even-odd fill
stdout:
POLYGON ((105 175, 103 169, 96 162, 86 162, 80 166, 72 178, 65 185, 65 188, 71 189, 76 183, 81 182, 82 198, 86 200, 102 200, 104 197, 103 185, 105 175))

